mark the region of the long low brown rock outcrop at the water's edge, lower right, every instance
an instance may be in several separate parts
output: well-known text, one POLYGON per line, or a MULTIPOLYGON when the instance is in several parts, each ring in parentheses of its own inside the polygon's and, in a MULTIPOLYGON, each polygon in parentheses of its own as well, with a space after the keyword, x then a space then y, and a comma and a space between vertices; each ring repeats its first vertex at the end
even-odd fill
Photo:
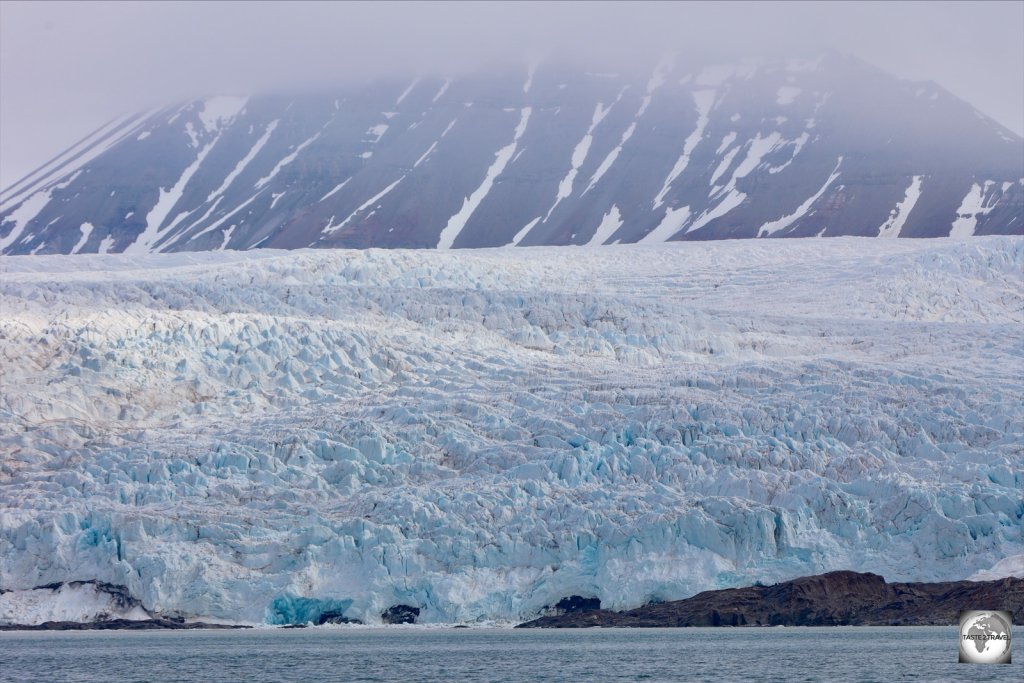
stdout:
POLYGON ((629 611, 544 616, 517 628, 697 626, 942 626, 964 609, 1024 613, 1024 579, 888 584, 873 573, 833 571, 775 586, 707 591, 629 611))

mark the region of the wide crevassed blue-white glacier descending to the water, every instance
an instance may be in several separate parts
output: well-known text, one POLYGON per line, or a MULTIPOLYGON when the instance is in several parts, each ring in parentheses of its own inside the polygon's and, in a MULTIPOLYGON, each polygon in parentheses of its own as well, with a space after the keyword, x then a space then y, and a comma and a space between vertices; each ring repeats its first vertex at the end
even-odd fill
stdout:
POLYGON ((1017 237, 0 258, 0 623, 1020 573, 1022 272, 1017 237))

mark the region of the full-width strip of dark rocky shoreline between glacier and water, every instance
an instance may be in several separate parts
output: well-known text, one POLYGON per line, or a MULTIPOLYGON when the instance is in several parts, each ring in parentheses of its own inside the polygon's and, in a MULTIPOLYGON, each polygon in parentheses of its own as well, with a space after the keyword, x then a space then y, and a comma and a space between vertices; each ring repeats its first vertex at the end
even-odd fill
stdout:
POLYGON ((705 591, 635 609, 600 608, 600 600, 571 596, 538 618, 477 624, 224 624, 183 618, 0 624, 0 632, 179 630, 432 630, 950 627, 967 609, 1024 613, 1024 579, 888 583, 879 574, 831 571, 773 586, 705 591))

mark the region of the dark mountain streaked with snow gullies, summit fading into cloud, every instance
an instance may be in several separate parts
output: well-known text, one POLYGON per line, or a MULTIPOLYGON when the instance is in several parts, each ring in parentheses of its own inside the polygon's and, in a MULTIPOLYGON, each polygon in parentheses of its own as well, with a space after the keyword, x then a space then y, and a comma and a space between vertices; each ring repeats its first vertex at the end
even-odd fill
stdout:
POLYGON ((829 53, 128 116, 0 195, 0 253, 1020 234, 1022 214, 1022 138, 829 53))

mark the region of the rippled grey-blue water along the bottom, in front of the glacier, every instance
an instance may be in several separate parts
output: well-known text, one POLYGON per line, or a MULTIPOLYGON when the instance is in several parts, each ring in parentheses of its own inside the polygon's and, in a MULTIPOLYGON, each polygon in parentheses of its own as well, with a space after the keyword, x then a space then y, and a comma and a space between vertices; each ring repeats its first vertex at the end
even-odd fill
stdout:
POLYGON ((956 629, 306 629, 0 633, 0 681, 1024 681, 956 629))

